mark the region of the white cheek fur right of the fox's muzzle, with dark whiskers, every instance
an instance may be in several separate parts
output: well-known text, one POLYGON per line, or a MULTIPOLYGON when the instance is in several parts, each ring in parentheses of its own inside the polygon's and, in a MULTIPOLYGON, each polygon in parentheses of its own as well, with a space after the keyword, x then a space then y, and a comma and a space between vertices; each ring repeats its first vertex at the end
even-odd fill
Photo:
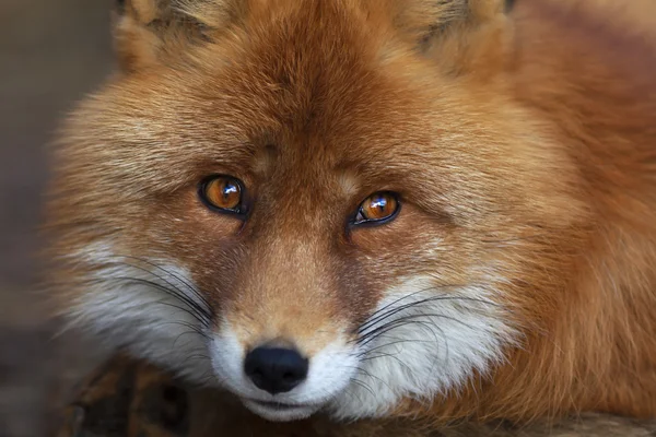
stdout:
POLYGON ((385 415, 407 397, 431 402, 504 359, 515 332, 492 293, 475 286, 422 292, 433 285, 431 277, 412 277, 379 303, 364 333, 385 332, 363 342, 360 383, 331 402, 336 417, 385 415))

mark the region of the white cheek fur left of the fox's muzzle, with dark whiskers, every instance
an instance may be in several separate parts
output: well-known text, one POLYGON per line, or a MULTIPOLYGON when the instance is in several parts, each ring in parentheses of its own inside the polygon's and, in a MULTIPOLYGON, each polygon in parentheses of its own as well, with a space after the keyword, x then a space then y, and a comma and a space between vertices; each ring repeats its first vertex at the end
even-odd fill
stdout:
POLYGON ((68 311, 70 324, 83 326, 105 346, 127 347, 184 378, 215 383, 206 326, 195 309, 204 304, 191 292, 185 269, 162 260, 117 257, 106 244, 89 247, 77 258, 96 268, 85 293, 68 311), (180 297, 165 290, 176 290, 180 297))

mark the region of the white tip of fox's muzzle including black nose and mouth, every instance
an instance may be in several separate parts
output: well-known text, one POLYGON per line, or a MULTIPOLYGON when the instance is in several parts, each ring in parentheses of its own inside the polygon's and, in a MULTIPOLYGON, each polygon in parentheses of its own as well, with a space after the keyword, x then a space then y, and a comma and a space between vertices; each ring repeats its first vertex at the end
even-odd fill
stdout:
POLYGON ((210 344, 212 366, 247 408, 272 421, 315 413, 348 387, 358 366, 356 350, 338 331, 265 342, 253 342, 248 332, 230 322, 218 328, 210 344))

